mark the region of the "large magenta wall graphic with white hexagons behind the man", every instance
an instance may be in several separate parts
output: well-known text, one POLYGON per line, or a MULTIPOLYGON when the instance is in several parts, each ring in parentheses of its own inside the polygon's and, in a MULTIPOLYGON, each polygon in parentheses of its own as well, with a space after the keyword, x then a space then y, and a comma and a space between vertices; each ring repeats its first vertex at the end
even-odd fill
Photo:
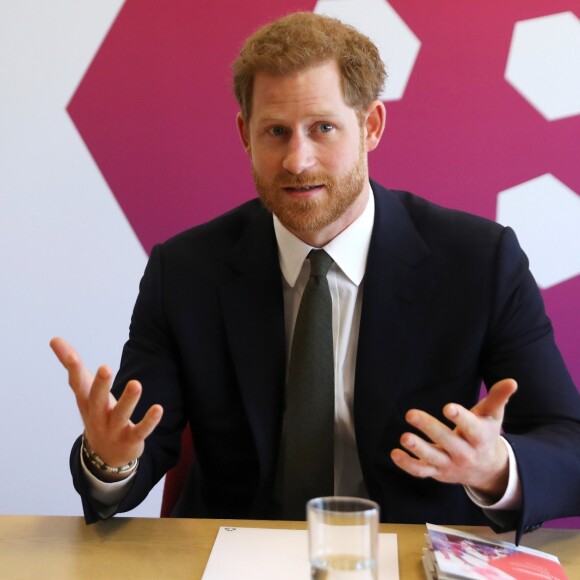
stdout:
MULTIPOLYGON (((349 3, 127 0, 68 112, 146 251, 255 195, 230 89, 243 39, 287 12, 338 4, 349 3)), ((580 76, 580 2, 365 0, 345 10, 374 39, 399 34, 414 51, 400 98, 387 98, 371 175, 513 224, 526 250, 523 234, 537 232, 532 270, 580 385, 580 85, 566 72, 580 76)))

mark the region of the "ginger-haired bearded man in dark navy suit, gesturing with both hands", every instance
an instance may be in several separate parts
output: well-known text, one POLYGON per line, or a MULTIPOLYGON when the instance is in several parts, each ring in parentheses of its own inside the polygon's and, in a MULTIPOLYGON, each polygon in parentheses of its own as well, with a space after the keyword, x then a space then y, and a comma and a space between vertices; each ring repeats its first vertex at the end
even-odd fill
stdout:
POLYGON ((368 495, 383 521, 518 538, 580 514, 580 398, 526 257, 509 228, 369 179, 384 78, 366 37, 311 13, 246 42, 237 123, 260 200, 153 249, 112 394, 107 367, 51 343, 85 424, 71 467, 87 521, 142 501, 187 423, 176 515, 275 513, 313 248, 334 261, 334 493, 368 495))

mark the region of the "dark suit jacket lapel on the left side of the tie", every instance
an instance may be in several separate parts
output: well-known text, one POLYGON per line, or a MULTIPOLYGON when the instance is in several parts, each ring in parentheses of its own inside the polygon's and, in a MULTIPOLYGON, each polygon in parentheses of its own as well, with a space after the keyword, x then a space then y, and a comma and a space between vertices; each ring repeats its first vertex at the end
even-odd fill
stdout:
POLYGON ((220 288, 226 334, 261 465, 273 466, 285 378, 284 303, 272 217, 265 210, 233 249, 237 276, 220 288))

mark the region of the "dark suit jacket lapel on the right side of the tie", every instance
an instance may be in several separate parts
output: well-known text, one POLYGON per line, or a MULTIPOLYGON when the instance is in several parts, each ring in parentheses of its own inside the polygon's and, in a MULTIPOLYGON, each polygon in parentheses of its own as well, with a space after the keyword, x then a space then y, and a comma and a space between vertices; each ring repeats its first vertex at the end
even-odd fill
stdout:
POLYGON ((413 352, 434 283, 429 249, 402 202, 378 184, 372 186, 375 223, 364 277, 354 397, 363 473, 369 472, 369 462, 413 368, 413 352))

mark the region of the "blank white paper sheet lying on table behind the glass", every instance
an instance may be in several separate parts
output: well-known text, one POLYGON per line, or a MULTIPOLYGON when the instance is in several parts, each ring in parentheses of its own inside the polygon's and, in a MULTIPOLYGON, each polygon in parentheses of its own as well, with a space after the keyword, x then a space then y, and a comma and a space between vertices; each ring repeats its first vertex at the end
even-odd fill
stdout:
MULTIPOLYGON (((417 558, 420 554, 417 555, 417 558)), ((308 532, 268 528, 219 529, 203 580, 307 580, 308 532)), ((379 580, 398 580, 396 534, 379 534, 379 580)))

